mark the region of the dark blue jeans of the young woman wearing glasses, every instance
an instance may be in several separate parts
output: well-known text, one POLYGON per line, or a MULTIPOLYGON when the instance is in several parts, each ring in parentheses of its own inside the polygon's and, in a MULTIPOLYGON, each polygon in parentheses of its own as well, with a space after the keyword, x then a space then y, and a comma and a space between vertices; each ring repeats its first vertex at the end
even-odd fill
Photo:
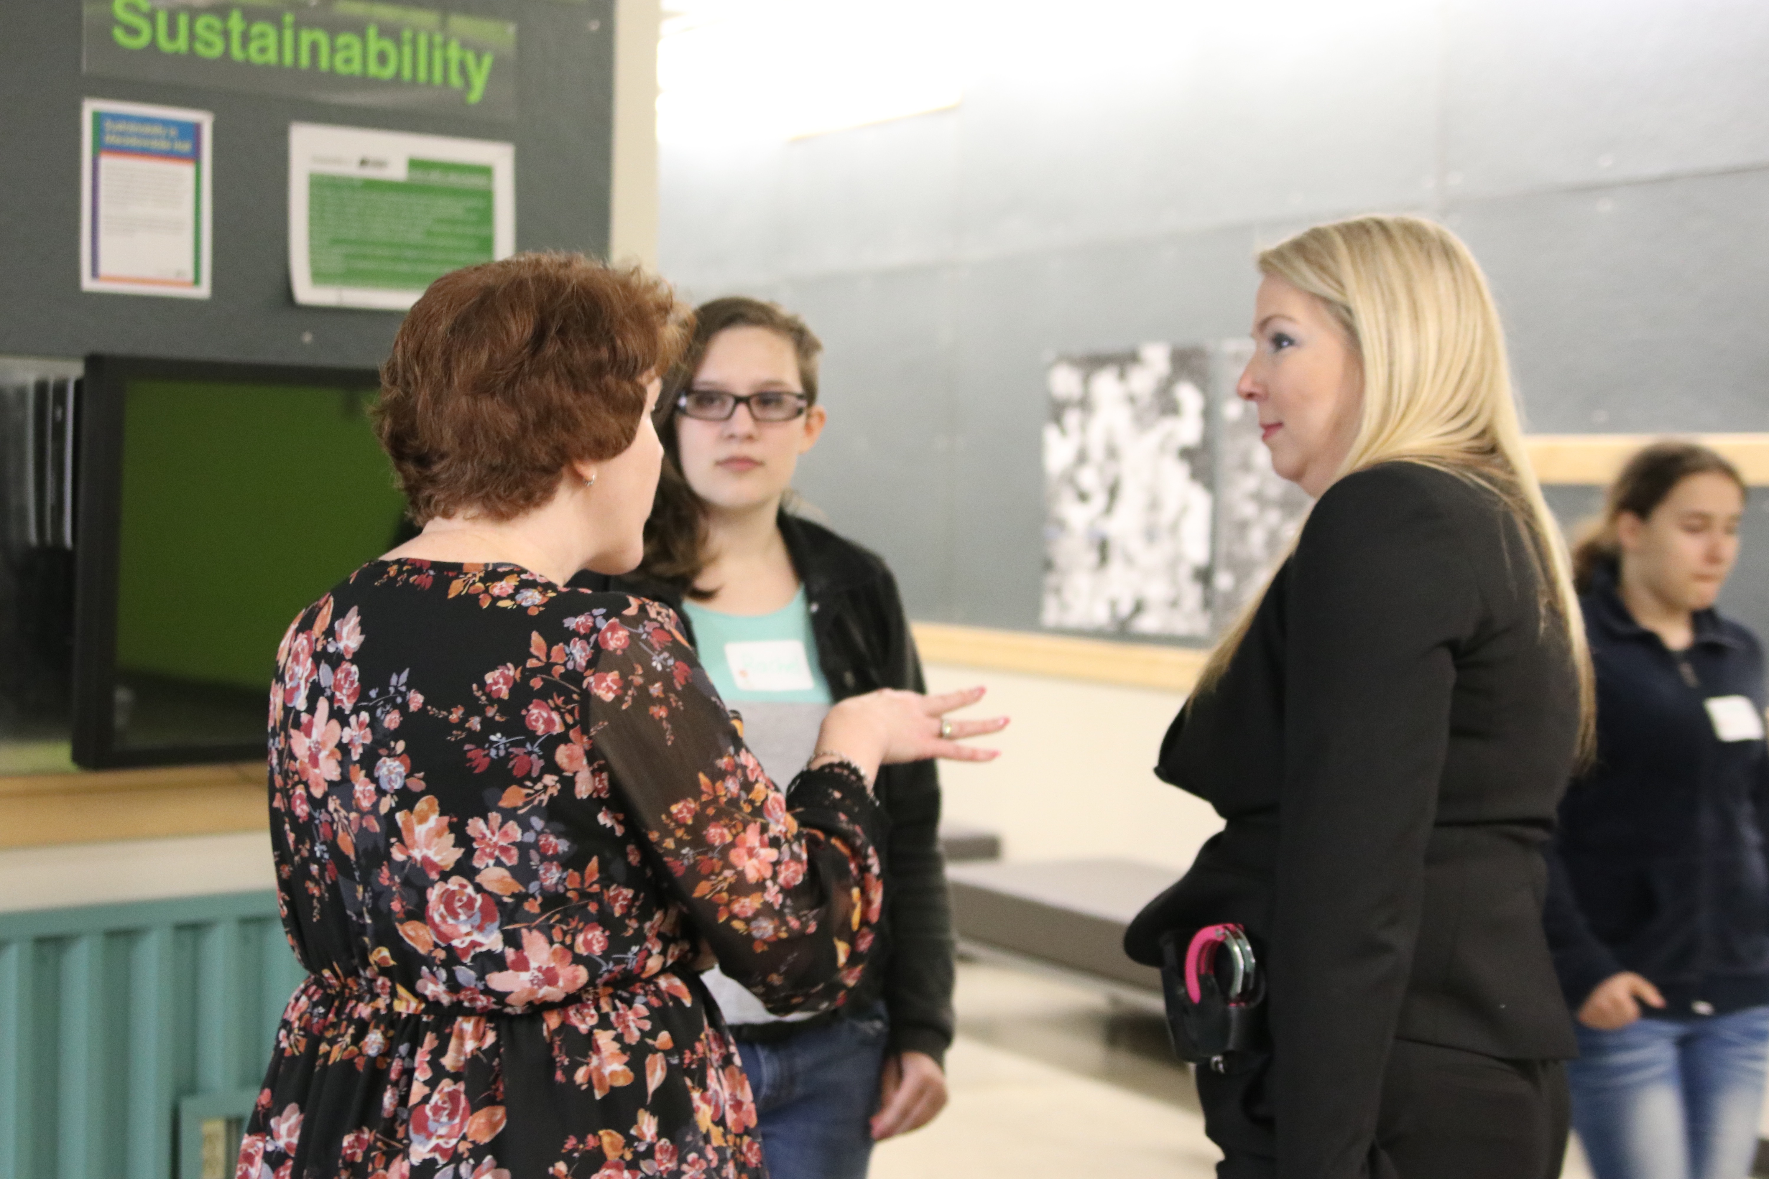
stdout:
POLYGON ((778 1043, 738 1043, 770 1179, 865 1179, 888 1032, 877 1004, 778 1043))

